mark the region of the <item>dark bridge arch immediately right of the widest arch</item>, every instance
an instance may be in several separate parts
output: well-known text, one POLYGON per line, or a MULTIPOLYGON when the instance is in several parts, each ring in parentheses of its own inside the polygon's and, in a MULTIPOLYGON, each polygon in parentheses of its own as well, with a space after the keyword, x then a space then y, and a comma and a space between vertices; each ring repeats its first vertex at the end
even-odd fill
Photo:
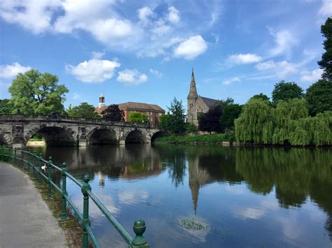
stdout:
POLYGON ((89 145, 117 144, 116 131, 107 127, 92 129, 86 136, 89 145))

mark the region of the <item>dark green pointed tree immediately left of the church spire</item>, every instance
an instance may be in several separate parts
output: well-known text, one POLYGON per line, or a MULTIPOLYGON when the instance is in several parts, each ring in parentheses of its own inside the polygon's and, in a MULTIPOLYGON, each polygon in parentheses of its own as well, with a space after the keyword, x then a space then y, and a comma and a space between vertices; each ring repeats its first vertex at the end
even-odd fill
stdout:
POLYGON ((186 115, 182 101, 175 97, 166 115, 160 116, 158 128, 172 135, 181 135, 186 131, 186 115))

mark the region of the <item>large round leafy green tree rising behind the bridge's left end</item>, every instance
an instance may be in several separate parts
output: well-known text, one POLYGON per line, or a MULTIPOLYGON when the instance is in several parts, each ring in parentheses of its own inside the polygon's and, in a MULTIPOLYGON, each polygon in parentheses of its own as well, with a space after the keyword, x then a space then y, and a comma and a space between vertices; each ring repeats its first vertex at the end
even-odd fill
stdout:
POLYGON ((8 91, 11 93, 13 113, 24 115, 48 115, 51 112, 64 113, 64 94, 67 87, 58 85, 59 79, 50 73, 30 70, 18 73, 8 91))

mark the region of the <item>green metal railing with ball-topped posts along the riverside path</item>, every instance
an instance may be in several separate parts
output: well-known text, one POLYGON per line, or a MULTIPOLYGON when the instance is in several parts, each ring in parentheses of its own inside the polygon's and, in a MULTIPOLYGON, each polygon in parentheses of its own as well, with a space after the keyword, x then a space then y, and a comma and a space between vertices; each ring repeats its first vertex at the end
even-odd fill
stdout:
POLYGON ((53 163, 52 157, 48 158, 48 161, 43 159, 41 154, 36 154, 36 152, 27 151, 25 149, 16 149, 10 147, 0 147, 0 160, 12 162, 21 167, 27 167, 29 173, 32 170, 32 177, 38 177, 37 182, 41 183, 41 179, 44 178, 47 182, 47 196, 50 197, 52 193, 52 187, 56 189, 62 197, 62 207, 61 207, 61 216, 60 221, 68 220, 67 216, 67 203, 70 205, 71 209, 75 212, 78 217, 78 222, 81 224, 83 229, 83 238, 82 246, 84 248, 89 246, 89 242, 92 243, 94 247, 100 247, 95 234, 90 228, 90 219, 89 219, 89 199, 91 199, 95 205, 99 208, 100 211, 104 214, 106 219, 108 219, 111 224, 116 228, 116 231, 120 233, 123 240, 127 242, 128 247, 140 247, 148 248, 149 245, 146 242, 146 239, 143 236, 143 233, 146 229, 146 225, 143 219, 137 219, 134 221, 133 230, 135 237, 132 238, 130 233, 125 230, 125 228, 116 220, 116 218, 109 212, 105 205, 92 193, 89 181, 89 175, 83 177, 83 184, 77 180, 73 175, 69 174, 67 171, 67 164, 62 163, 62 166, 56 166, 53 163), (20 156, 18 156, 18 152, 20 156), (6 158, 6 159, 5 159, 6 158), (20 163, 18 163, 20 161, 20 163), (61 188, 55 184, 52 180, 52 169, 57 170, 62 175, 61 188), (72 180, 78 187, 81 188, 83 194, 83 213, 78 210, 78 207, 73 203, 71 198, 67 194, 67 177, 72 180))

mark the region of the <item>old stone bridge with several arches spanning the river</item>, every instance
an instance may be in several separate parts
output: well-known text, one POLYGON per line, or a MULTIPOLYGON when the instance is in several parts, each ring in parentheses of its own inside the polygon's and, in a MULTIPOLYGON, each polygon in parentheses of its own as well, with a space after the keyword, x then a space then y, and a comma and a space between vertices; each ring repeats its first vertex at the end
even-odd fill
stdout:
POLYGON ((46 145, 86 146, 151 143, 162 136, 155 126, 57 115, 0 115, 0 145, 25 147, 39 133, 46 145))

